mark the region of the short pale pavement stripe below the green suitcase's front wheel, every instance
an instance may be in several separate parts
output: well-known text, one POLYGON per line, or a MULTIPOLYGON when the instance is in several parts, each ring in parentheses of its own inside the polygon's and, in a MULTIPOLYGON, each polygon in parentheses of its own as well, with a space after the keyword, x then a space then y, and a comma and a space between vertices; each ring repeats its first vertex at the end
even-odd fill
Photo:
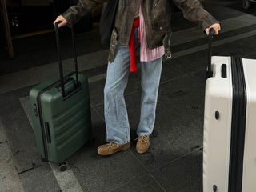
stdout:
POLYGON ((58 170, 58 165, 54 163, 49 164, 62 192, 83 192, 78 179, 75 177, 73 170, 71 170, 68 165, 68 169, 64 172, 61 172, 58 170))

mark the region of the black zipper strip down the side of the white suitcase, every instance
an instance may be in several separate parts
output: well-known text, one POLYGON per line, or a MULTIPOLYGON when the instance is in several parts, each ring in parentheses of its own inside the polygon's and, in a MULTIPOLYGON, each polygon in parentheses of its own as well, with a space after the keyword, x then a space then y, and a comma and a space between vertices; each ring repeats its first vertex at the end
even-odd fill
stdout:
POLYGON ((242 58, 232 57, 233 106, 230 142, 229 192, 242 192, 243 157, 246 133, 246 82, 242 58))

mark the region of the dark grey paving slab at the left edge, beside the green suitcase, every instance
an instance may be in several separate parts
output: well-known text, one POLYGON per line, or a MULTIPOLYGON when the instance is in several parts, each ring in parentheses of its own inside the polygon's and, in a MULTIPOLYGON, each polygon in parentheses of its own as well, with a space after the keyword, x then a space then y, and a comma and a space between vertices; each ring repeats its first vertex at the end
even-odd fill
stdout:
POLYGON ((17 110, 2 115, 2 123, 6 128, 14 165, 18 173, 21 173, 35 166, 41 166, 43 163, 35 148, 34 132, 30 122, 24 110, 18 109, 18 105, 15 107, 17 110))

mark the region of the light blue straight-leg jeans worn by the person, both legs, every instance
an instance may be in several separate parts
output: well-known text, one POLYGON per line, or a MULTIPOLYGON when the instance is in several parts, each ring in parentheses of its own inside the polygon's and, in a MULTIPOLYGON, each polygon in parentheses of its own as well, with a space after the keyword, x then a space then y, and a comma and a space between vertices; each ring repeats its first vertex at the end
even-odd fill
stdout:
MULTIPOLYGON (((138 40, 136 42, 138 45, 138 40)), ((152 62, 141 62, 142 97, 140 122, 137 129, 138 136, 150 135, 153 132, 161 72, 162 58, 152 62)), ((130 125, 124 98, 129 73, 129 47, 118 44, 114 62, 109 63, 107 67, 104 88, 107 142, 114 141, 118 144, 130 142, 130 125)))

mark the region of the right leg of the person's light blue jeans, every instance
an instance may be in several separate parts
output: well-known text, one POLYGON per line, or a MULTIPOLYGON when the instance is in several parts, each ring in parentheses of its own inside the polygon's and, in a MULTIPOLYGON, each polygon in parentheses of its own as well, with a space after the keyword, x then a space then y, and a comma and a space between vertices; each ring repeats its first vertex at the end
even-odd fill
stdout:
POLYGON ((156 106, 158 101, 158 88, 162 72, 162 58, 152 62, 141 63, 141 116, 137 135, 148 136, 153 132, 156 106))

